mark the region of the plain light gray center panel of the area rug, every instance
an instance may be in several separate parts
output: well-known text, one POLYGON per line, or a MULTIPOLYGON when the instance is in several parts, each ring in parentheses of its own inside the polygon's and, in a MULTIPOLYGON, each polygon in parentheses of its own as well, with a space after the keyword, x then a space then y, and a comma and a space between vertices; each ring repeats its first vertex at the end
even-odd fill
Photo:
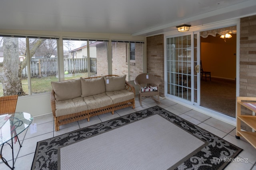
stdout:
POLYGON ((152 115, 60 148, 58 169, 168 169, 205 143, 152 115))

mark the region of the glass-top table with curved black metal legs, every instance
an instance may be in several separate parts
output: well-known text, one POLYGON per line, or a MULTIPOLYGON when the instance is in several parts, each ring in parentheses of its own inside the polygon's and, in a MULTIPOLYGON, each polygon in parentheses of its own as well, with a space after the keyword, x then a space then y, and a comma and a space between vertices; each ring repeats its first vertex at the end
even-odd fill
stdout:
MULTIPOLYGON (((0 158, 9 168, 14 169, 14 154, 13 154, 13 139, 18 139, 18 135, 22 133, 33 121, 33 117, 30 113, 26 112, 15 112, 15 113, 6 113, 0 115, 0 146, 2 145, 0 158), (10 141, 10 143, 8 143, 10 141), (6 159, 2 155, 2 149, 4 144, 7 143, 12 149, 12 164, 11 167, 6 159)), ((20 141, 18 139, 20 144, 20 141)), ((22 147, 20 145, 20 147, 22 147)))

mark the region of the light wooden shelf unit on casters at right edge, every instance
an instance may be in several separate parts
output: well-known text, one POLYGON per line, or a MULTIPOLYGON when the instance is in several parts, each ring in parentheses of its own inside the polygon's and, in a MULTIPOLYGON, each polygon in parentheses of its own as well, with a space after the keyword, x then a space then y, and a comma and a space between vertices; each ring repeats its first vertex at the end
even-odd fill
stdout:
POLYGON ((236 139, 244 137, 256 149, 256 97, 237 97, 236 139), (252 111, 252 115, 241 115, 241 106, 252 111), (252 132, 241 131, 241 121, 252 128, 252 132))

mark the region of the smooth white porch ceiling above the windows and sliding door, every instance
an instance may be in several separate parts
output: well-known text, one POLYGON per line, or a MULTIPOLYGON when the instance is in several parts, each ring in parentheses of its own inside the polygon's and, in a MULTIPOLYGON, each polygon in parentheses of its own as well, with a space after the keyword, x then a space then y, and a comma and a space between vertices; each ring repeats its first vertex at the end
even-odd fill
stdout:
POLYGON ((0 29, 154 35, 256 14, 256 0, 0 0, 0 29))

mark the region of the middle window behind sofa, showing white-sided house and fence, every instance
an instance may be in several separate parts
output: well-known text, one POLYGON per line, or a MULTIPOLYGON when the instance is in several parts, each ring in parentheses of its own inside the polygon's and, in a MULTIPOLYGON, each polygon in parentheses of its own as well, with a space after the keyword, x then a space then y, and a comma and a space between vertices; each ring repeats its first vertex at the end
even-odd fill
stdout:
POLYGON ((108 41, 63 39, 65 80, 108 74, 108 41))

